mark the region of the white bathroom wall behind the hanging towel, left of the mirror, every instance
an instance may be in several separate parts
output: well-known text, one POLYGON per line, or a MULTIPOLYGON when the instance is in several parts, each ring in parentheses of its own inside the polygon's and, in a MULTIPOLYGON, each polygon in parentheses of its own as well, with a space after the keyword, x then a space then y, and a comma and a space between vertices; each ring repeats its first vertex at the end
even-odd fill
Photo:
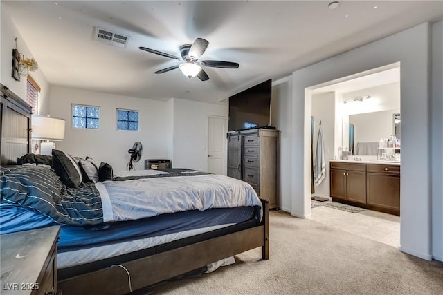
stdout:
POLYGON ((316 144, 318 142, 318 128, 321 121, 321 130, 323 135, 323 147, 325 150, 326 176, 325 180, 314 187, 314 196, 329 198, 329 161, 334 160, 334 129, 335 129, 335 94, 333 92, 321 93, 312 96, 312 116, 315 117, 313 151, 315 159, 316 144))

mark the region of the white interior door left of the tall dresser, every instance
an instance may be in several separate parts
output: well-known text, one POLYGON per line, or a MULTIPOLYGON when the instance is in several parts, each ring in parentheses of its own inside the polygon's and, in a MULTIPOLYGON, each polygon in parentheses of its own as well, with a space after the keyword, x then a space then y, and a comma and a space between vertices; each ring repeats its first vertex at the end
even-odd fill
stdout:
POLYGON ((208 117, 208 172, 226 175, 228 118, 208 117))

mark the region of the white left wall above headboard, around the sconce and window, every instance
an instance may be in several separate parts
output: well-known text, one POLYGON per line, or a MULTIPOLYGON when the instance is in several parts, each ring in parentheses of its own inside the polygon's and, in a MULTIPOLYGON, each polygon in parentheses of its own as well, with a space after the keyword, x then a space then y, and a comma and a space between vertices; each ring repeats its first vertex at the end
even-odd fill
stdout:
MULTIPOLYGON (((17 37, 17 48, 19 53, 30 58, 33 55, 30 53, 25 40, 21 37, 19 31, 10 19, 8 12, 4 9, 3 3, 0 6, 1 14, 1 40, 0 40, 0 82, 18 95, 21 99, 26 101, 26 77, 21 76, 20 81, 12 78, 12 50, 15 49, 15 38, 17 37)), ((38 61, 37 61, 38 62, 38 61)), ((38 114, 48 115, 49 112, 49 84, 42 70, 38 69, 35 72, 30 72, 35 82, 40 86, 39 109, 38 114)))

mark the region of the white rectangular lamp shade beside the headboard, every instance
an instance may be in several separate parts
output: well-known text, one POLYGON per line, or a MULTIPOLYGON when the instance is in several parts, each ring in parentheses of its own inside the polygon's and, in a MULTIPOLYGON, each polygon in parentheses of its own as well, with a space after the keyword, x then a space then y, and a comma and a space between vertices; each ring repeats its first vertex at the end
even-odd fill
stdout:
POLYGON ((64 119, 33 116, 33 140, 64 140, 64 119))

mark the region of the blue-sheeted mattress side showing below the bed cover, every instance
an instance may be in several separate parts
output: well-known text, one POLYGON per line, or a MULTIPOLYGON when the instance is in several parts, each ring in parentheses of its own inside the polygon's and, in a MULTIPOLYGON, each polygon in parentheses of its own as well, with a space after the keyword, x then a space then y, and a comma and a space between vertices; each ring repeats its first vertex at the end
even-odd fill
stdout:
MULTIPOLYGON (((109 242, 125 242, 181 231, 191 232, 199 228, 211 230, 211 227, 233 225, 251 218, 259 220, 259 213, 259 207, 215 208, 167 213, 141 220, 108 222, 90 227, 62 226, 57 247, 59 253, 62 253, 106 245, 109 242)), ((51 218, 25 207, 2 205, 0 216, 1 234, 57 225, 51 218)))

